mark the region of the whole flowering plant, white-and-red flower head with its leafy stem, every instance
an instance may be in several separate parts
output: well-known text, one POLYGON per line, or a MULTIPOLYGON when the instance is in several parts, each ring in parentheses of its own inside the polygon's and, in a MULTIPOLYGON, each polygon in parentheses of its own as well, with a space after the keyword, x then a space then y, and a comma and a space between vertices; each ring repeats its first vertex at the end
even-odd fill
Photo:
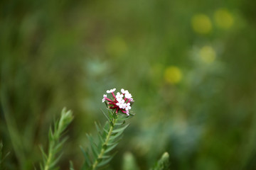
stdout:
POLYGON ((90 140, 90 149, 82 149, 85 156, 85 164, 82 169, 95 170, 101 166, 106 166, 114 157, 110 152, 119 143, 122 133, 129 126, 125 124, 125 120, 133 115, 129 112, 134 103, 132 94, 129 91, 121 89, 121 93, 114 94, 116 89, 107 90, 107 94, 112 94, 112 99, 107 98, 107 94, 103 95, 102 102, 106 103, 108 113, 102 111, 107 118, 104 126, 95 123, 98 132, 98 142, 87 135, 90 140))

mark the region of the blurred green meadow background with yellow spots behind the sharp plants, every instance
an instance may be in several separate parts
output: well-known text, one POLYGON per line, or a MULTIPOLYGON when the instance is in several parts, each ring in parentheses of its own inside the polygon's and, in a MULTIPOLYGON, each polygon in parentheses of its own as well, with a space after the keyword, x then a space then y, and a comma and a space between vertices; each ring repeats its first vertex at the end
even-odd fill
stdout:
POLYGON ((256 2, 0 1, 0 140, 6 169, 34 169, 48 128, 75 115, 60 169, 83 162, 107 89, 137 115, 108 169, 256 169, 256 2), (132 157, 132 158, 131 158, 132 157), (135 168, 131 168, 135 169, 135 168))

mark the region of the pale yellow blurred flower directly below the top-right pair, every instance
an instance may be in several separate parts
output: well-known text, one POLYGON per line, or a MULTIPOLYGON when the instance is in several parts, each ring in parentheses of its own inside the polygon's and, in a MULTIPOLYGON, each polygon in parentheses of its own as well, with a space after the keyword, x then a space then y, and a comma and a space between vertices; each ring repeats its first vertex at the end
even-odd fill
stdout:
POLYGON ((216 58, 215 50, 213 49, 213 47, 210 47, 209 45, 202 47, 199 52, 199 55, 203 60, 203 62, 206 62, 206 63, 211 63, 216 58))

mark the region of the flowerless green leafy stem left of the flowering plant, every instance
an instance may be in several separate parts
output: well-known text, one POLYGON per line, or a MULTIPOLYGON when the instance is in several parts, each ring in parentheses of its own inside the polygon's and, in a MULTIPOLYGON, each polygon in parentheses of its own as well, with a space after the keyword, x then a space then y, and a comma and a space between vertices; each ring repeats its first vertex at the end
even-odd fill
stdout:
MULTIPOLYGON (((60 116, 60 120, 57 120, 54 123, 54 128, 50 128, 48 140, 49 140, 49 147, 48 147, 48 154, 43 151, 41 147, 41 151, 43 153, 43 164, 40 164, 41 170, 52 170, 58 169, 56 168, 56 164, 58 163, 61 154, 58 155, 60 150, 63 147, 64 142, 67 140, 67 137, 61 139, 63 132, 67 128, 67 126, 73 120, 73 115, 71 111, 66 111, 63 108, 63 111, 60 116)), ((72 167, 72 166, 71 166, 72 167)))

